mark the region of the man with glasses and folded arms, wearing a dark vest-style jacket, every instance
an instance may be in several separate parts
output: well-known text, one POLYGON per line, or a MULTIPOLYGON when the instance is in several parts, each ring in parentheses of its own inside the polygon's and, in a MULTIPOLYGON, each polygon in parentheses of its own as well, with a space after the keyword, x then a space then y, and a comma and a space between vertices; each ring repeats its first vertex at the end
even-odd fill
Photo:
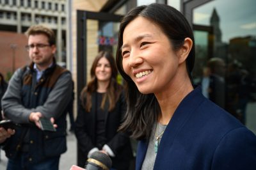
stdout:
POLYGON ((67 105, 72 97, 72 76, 56 64, 54 32, 45 26, 26 31, 31 64, 19 68, 2 100, 4 116, 22 126, 4 142, 8 170, 58 169, 67 150, 67 105), (56 132, 42 130, 40 118, 54 118, 56 132))

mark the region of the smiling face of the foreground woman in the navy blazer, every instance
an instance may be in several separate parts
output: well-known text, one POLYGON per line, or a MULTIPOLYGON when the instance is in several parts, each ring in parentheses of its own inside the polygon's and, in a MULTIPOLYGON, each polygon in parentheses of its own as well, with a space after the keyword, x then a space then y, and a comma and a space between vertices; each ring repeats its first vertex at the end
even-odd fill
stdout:
POLYGON ((175 83, 179 59, 154 22, 137 17, 125 27, 122 56, 124 72, 141 93, 161 93, 175 83))

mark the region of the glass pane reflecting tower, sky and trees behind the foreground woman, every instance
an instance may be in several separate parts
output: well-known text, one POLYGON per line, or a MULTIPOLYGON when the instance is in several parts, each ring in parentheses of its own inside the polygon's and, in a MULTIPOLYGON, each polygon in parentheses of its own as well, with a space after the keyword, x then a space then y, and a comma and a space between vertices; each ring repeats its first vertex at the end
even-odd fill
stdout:
POLYGON ((255 0, 216 0, 193 10, 196 46, 193 76, 195 83, 200 84, 207 62, 211 58, 223 60, 225 105, 222 107, 256 133, 255 6, 255 0), (212 32, 198 31, 197 27, 208 27, 212 32))

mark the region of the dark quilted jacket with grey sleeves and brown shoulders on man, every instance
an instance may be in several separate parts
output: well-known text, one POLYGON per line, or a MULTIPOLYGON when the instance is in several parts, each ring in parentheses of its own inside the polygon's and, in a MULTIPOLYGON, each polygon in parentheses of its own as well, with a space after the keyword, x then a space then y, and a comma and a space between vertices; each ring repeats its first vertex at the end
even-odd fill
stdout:
POLYGON ((19 151, 25 150, 28 151, 28 162, 36 164, 64 153, 67 150, 65 106, 71 94, 71 73, 56 65, 55 61, 38 82, 33 63, 17 70, 3 97, 2 107, 4 116, 20 123, 22 127, 4 144, 6 157, 15 158, 19 151), (41 112, 46 118, 53 117, 54 123, 58 125, 56 132, 40 130, 35 123, 29 122, 31 112, 41 112))

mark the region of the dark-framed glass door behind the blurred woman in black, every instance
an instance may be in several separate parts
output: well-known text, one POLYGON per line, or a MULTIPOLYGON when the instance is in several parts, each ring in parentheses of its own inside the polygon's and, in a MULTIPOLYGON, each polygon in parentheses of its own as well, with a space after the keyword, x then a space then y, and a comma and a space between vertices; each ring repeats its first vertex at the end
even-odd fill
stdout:
POLYGON ((98 52, 108 50, 115 56, 121 18, 111 13, 77 11, 77 94, 90 79, 92 62, 98 52))

